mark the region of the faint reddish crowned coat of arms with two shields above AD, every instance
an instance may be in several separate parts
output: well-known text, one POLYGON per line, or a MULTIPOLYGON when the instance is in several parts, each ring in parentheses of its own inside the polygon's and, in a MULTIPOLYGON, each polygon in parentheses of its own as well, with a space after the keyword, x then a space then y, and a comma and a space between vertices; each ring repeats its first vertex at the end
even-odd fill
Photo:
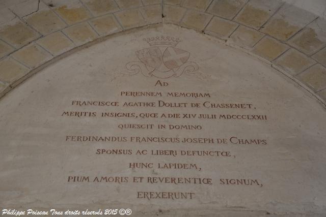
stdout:
POLYGON ((136 51, 140 61, 126 65, 131 74, 141 72, 146 77, 171 78, 198 70, 196 63, 188 61, 190 53, 175 47, 179 38, 160 36, 143 40, 151 47, 136 51))

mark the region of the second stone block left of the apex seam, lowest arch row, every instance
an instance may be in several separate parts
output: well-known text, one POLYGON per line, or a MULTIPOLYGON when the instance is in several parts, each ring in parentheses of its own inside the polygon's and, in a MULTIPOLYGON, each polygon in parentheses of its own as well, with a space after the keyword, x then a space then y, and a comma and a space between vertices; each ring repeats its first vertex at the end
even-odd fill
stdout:
POLYGON ((134 28, 145 25, 145 20, 138 9, 130 9, 116 13, 123 28, 134 28))

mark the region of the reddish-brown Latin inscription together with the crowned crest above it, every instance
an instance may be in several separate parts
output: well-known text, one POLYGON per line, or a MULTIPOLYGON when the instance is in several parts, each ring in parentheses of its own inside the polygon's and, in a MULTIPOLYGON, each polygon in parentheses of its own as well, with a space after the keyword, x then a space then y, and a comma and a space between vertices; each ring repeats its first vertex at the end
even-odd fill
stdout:
POLYGON ((234 131, 215 132, 211 126, 223 126, 228 121, 235 126, 246 121, 263 124, 269 116, 261 112, 259 104, 248 99, 221 101, 212 92, 194 91, 191 87, 179 91, 178 85, 170 83, 171 79, 199 70, 195 62, 189 61, 191 53, 176 47, 180 41, 163 36, 146 38, 144 42, 150 47, 136 51, 139 61, 126 65, 130 75, 142 73, 159 79, 148 84, 153 90, 121 88, 105 99, 76 98, 67 102, 58 114, 61 118, 107 121, 112 130, 98 134, 76 130, 62 141, 89 147, 90 158, 118 161, 123 157, 126 160, 121 166, 139 174, 116 176, 99 171, 94 176, 91 171, 89 175, 87 171, 74 172, 66 174, 68 183, 132 185, 134 198, 139 200, 192 200, 204 189, 209 191, 209 186, 263 187, 264 180, 246 174, 221 174, 218 178, 203 175, 210 164, 218 165, 219 161, 232 164, 237 157, 246 155, 246 148, 270 145, 264 135, 244 135, 236 127, 234 131), (211 131, 213 134, 207 133, 211 131), (181 171, 189 171, 186 174, 191 176, 181 171), (183 185, 192 191, 183 191, 180 188, 183 185), (199 185, 203 187, 196 188, 199 185))

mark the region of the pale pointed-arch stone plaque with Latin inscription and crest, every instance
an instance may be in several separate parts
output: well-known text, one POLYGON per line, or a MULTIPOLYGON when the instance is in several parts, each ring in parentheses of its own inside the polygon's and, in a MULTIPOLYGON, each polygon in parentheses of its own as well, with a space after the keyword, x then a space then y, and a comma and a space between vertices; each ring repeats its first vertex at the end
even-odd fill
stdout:
POLYGON ((280 72, 193 30, 118 34, 1 99, 0 207, 322 216, 325 114, 280 72))

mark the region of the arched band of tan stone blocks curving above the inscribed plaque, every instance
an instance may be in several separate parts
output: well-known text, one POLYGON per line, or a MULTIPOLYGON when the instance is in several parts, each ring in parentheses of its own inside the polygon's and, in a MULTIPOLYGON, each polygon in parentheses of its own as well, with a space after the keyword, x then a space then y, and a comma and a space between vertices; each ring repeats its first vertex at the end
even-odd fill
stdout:
POLYGON ((325 105, 326 22, 282 1, 15 0, 0 9, 0 97, 77 47, 172 23, 255 55, 325 105))

